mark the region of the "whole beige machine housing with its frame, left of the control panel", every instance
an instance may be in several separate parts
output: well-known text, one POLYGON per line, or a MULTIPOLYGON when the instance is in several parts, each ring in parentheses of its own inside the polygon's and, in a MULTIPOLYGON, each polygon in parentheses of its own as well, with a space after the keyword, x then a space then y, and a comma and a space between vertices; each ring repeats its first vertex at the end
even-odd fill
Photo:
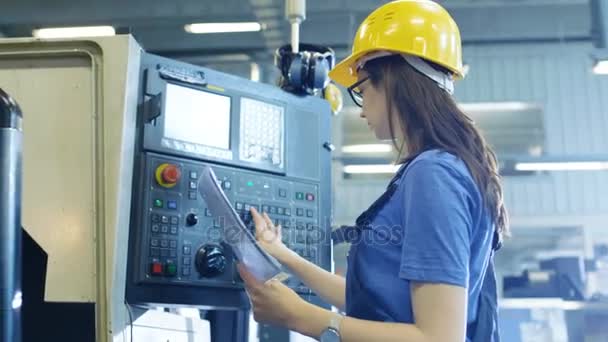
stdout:
POLYGON ((0 39, 0 87, 24 114, 22 222, 48 254, 45 300, 94 302, 122 341, 137 91, 130 36, 0 39))

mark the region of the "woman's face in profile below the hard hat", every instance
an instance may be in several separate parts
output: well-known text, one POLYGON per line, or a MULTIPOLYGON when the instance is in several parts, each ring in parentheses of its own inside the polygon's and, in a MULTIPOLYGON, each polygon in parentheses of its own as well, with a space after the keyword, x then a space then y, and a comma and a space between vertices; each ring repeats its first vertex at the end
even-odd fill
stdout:
MULTIPOLYGON (((368 77, 365 70, 359 72, 358 81, 364 80, 368 77)), ((386 92, 384 86, 378 85, 375 87, 371 80, 367 79, 359 85, 359 91, 363 96, 363 107, 361 110, 361 118, 367 120, 367 124, 371 130, 374 131, 376 138, 379 140, 390 140, 391 130, 389 127, 389 115, 388 115, 388 104, 386 103, 386 92)), ((394 113, 396 114, 396 113, 394 113)), ((398 115, 394 115, 396 118, 398 115)), ((395 120, 398 121, 398 120, 395 120)), ((401 126, 394 121, 394 131, 399 138, 401 134, 401 126)))

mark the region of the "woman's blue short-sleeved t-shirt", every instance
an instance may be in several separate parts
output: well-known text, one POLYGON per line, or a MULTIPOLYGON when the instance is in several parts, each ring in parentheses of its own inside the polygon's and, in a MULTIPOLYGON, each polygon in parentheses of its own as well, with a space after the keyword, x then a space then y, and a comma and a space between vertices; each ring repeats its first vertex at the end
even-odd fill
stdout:
POLYGON ((474 322, 494 233, 474 179, 461 159, 430 150, 396 182, 372 229, 363 229, 349 251, 347 315, 414 323, 415 281, 467 288, 467 322, 474 322))

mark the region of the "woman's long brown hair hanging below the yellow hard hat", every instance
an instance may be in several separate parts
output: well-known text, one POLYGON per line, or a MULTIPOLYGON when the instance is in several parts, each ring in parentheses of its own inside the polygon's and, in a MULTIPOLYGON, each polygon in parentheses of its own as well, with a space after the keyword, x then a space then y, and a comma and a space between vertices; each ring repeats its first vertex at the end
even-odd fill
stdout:
MULTIPOLYGON (((446 72, 438 65, 429 64, 446 72)), ((399 156, 403 157, 403 152, 412 155, 426 148, 438 148, 461 158, 492 213, 496 231, 501 236, 508 235, 496 154, 453 97, 399 55, 373 59, 365 64, 364 70, 374 87, 384 87, 391 138, 399 156), (394 127, 395 115, 399 115, 397 122, 404 131, 402 142, 396 138, 395 129, 401 127, 394 127), (403 151, 404 146, 407 151, 403 151)))

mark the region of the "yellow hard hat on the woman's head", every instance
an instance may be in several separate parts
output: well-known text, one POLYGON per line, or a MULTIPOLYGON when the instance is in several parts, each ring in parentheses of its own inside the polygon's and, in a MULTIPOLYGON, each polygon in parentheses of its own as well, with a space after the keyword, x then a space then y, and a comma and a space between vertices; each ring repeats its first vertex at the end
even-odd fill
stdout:
POLYGON ((336 83, 357 81, 357 62, 367 54, 387 51, 421 57, 464 77, 460 31, 450 14, 431 0, 397 0, 373 11, 357 30, 350 56, 329 72, 336 83))

